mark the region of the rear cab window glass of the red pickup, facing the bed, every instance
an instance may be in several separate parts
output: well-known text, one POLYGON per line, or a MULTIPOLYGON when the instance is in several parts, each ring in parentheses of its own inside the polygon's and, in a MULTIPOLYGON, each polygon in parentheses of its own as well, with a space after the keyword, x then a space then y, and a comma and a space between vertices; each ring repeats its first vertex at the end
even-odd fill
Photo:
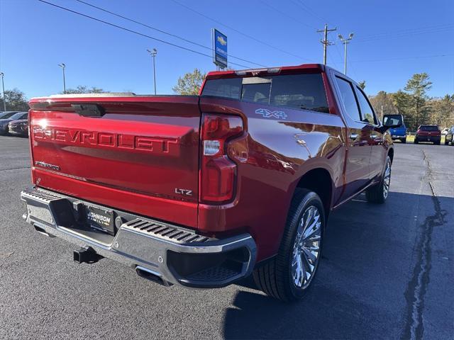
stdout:
POLYGON ((329 113, 321 73, 207 79, 201 96, 329 113))

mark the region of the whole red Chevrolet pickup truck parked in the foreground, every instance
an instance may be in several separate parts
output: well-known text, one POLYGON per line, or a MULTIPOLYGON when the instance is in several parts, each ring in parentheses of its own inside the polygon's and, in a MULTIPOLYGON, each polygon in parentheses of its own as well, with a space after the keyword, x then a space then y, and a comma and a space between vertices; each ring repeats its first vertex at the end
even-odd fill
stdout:
POLYGON ((162 285, 223 287, 253 273, 302 297, 328 216, 362 191, 388 196, 394 157, 355 81, 321 64, 210 72, 199 96, 33 98, 35 186, 21 193, 40 233, 162 285))

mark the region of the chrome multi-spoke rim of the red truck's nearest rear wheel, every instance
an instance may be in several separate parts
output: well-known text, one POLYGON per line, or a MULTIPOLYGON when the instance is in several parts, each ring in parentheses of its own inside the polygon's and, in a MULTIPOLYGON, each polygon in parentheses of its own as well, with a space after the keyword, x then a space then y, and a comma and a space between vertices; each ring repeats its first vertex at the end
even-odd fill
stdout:
POLYGON ((297 288, 306 289, 314 277, 320 257, 321 218, 319 209, 309 206, 299 220, 293 245, 292 278, 297 288))

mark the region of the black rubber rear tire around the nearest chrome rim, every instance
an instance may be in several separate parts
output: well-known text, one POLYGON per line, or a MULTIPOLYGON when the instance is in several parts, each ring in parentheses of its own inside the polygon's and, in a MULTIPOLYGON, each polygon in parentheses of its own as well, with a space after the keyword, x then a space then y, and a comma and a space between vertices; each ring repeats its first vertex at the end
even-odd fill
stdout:
POLYGON ((265 263, 265 265, 254 270, 253 277, 258 288, 263 290, 267 295, 282 301, 290 302, 301 300, 301 298, 303 298, 312 287, 314 277, 317 273, 317 268, 319 267, 319 263, 321 261, 324 228, 325 212, 323 210, 323 203, 321 202, 319 196, 313 191, 297 188, 289 208, 289 214, 287 215, 287 222, 277 256, 265 263), (309 279, 308 285, 305 288, 299 288, 294 283, 296 278, 292 277, 294 244, 297 237, 299 222, 301 221, 301 218, 304 217, 304 213, 311 207, 318 209, 320 215, 319 221, 321 222, 321 234, 319 240, 319 252, 316 264, 312 271, 313 274, 309 279))

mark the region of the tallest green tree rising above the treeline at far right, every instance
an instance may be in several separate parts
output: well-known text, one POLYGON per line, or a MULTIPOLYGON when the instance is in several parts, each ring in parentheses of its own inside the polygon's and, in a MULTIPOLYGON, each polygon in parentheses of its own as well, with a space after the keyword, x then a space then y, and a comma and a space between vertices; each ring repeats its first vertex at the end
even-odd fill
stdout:
POLYGON ((432 88, 428 74, 416 73, 406 82, 404 90, 411 96, 411 115, 414 118, 414 125, 417 128, 420 124, 428 123, 429 110, 427 106, 427 91, 432 88))

